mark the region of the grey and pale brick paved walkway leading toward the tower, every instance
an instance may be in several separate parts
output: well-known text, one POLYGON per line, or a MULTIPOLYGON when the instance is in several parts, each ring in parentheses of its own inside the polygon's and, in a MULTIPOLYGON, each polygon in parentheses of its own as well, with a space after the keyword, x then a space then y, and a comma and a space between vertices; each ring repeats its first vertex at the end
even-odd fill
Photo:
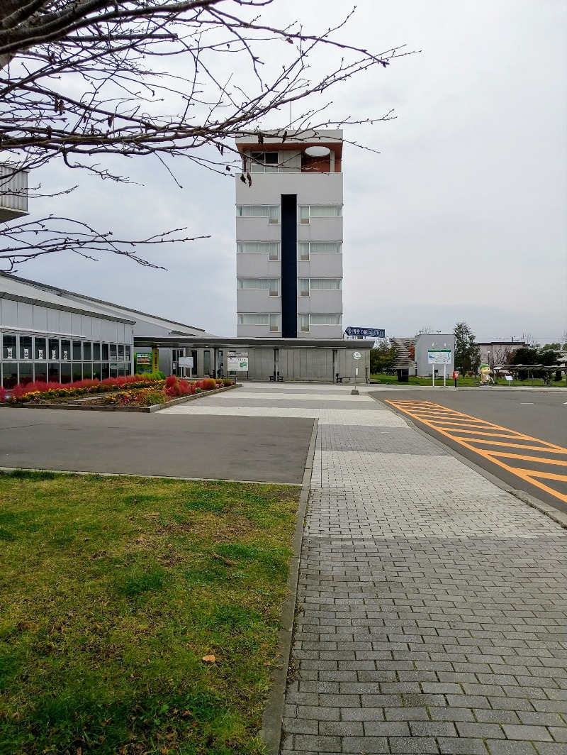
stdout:
POLYGON ((364 389, 196 403, 319 419, 283 755, 567 753, 564 529, 364 389))

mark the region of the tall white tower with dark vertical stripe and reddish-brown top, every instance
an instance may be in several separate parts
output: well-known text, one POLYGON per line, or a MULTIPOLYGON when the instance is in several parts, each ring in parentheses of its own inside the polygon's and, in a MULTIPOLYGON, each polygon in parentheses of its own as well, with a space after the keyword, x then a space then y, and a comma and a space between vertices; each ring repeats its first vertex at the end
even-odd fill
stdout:
POLYGON ((237 140, 238 337, 342 338, 342 131, 237 140))

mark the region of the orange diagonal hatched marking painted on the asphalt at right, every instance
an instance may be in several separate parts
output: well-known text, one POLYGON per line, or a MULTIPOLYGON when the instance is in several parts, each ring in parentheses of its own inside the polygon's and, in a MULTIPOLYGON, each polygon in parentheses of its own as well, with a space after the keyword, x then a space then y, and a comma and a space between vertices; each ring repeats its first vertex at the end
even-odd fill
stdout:
POLYGON ((507 472, 529 482, 531 485, 536 485, 538 488, 541 488, 541 490, 553 495, 554 498, 559 498, 559 501, 565 501, 567 503, 567 495, 551 488, 550 485, 541 482, 544 479, 555 482, 567 482, 567 476, 553 472, 541 472, 529 468, 530 463, 550 464, 557 467, 567 466, 567 461, 553 459, 553 455, 567 454, 567 448, 563 448, 555 443, 547 442, 546 440, 541 440, 541 438, 534 438, 524 433, 517 433, 516 430, 510 430, 509 427, 502 427, 493 422, 480 420, 470 414, 464 414, 461 411, 455 411, 455 409, 449 409, 430 401, 408 401, 398 399, 393 401, 386 400, 385 402, 391 404, 399 411, 403 411, 404 414, 409 414, 410 417, 431 427, 433 430, 437 430, 437 433, 441 433, 447 438, 455 441, 455 443, 459 443, 465 448, 469 448, 470 451, 474 451, 475 454, 488 459, 488 461, 492 461, 492 464, 498 464, 499 467, 507 470, 507 472), (489 440, 489 438, 500 438, 502 440, 489 440), (526 440, 529 441, 529 445, 506 442, 504 439, 510 439, 510 441, 526 440), (479 448, 478 445, 474 445, 475 443, 498 445, 500 448, 517 448, 518 451, 498 451, 495 448, 479 448), (547 458, 536 457, 522 454, 520 451, 547 451, 549 455, 547 458), (526 466, 510 466, 510 464, 506 464, 505 461, 502 461, 504 458, 522 461, 526 463, 526 466))

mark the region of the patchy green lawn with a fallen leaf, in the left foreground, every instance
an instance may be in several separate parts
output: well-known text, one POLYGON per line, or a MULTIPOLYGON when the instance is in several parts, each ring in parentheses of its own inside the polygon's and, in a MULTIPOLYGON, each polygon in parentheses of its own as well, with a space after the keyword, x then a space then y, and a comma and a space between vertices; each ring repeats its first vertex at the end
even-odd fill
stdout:
POLYGON ((0 753, 263 752, 298 500, 0 475, 0 753))

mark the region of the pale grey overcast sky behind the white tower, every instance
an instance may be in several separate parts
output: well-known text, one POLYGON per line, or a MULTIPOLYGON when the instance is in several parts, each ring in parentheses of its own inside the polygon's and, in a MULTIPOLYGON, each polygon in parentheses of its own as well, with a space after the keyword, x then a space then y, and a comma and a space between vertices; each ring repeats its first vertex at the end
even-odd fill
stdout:
MULTIPOLYGON (((329 5, 276 0, 274 11, 324 29, 339 18, 329 5)), ((564 0, 357 0, 343 39, 420 52, 333 91, 329 118, 396 116, 345 128, 345 139, 380 154, 344 150, 344 327, 412 336, 465 320, 479 340, 559 340, 567 328, 566 8, 564 0)), ((315 68, 325 64, 321 56, 315 68)), ((79 188, 32 200, 32 217, 78 217, 128 238, 188 226, 210 239, 152 251, 167 271, 59 255, 18 274, 234 335, 234 177, 179 158, 179 189, 152 160, 124 164, 143 186, 44 168, 44 187, 79 188)))

